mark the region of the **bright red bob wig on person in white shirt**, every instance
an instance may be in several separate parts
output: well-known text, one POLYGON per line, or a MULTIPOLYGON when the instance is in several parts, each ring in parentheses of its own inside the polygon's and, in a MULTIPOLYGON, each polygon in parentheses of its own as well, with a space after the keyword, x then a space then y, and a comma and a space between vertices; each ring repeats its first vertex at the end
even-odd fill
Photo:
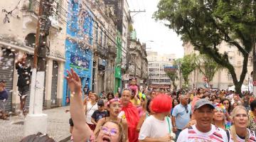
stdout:
POLYGON ((151 102, 151 111, 162 113, 171 111, 171 97, 166 94, 159 94, 151 102))

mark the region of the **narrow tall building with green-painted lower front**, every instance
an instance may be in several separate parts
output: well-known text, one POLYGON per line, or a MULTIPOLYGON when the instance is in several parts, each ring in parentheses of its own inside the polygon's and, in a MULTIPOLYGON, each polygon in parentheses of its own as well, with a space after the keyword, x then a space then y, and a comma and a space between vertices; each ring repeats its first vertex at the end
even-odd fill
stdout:
POLYGON ((127 50, 129 46, 129 25, 132 23, 129 14, 129 5, 127 0, 104 0, 105 4, 114 7, 115 16, 117 16, 117 58, 114 70, 114 92, 124 87, 125 81, 122 78, 128 70, 127 50), (121 55, 119 55, 121 54, 121 55))

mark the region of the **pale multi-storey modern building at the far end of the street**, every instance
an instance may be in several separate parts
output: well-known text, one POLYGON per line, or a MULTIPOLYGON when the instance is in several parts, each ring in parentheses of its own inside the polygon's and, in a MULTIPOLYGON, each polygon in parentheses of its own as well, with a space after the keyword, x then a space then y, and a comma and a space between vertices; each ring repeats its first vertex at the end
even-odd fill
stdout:
POLYGON ((175 54, 159 55, 154 51, 147 51, 149 86, 152 89, 171 89, 171 80, 164 72, 164 67, 174 66, 175 54))

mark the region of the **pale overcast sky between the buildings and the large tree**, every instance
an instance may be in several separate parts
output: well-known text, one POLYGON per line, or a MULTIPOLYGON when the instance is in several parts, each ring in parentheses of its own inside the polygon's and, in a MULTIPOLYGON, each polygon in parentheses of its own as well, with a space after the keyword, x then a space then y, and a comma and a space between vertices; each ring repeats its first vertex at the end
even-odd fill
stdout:
POLYGON ((176 54, 176 58, 182 58, 184 51, 181 38, 164 26, 162 21, 152 18, 157 10, 159 0, 127 0, 130 11, 144 11, 142 13, 131 13, 133 26, 137 31, 137 38, 146 43, 148 50, 157 51, 160 54, 176 54))

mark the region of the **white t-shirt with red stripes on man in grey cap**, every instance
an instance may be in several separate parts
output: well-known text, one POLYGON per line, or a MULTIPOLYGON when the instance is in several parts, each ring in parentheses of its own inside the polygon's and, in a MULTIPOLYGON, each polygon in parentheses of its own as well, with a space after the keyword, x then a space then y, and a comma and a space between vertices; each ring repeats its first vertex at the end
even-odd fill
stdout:
POLYGON ((178 142, 228 142, 228 136, 225 130, 211 125, 210 131, 203 133, 196 129, 196 125, 184 129, 178 135, 178 142))

